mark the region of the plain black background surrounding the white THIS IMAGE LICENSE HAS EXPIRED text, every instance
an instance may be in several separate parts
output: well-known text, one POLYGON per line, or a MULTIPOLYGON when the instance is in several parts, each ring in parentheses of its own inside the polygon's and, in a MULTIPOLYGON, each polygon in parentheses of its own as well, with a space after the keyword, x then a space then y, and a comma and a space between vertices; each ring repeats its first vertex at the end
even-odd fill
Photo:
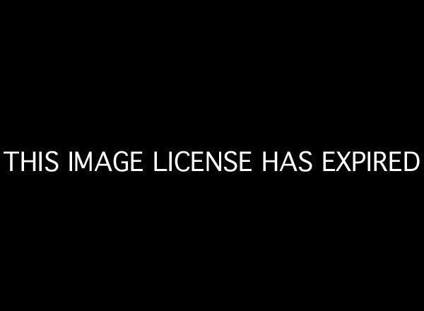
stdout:
POLYGON ((20 8, 2 39, 1 151, 251 150, 255 172, 8 174, 2 163, 8 293, 405 303, 420 276, 422 168, 325 174, 320 155, 422 158, 419 20, 175 9, 20 8), (260 172, 261 151, 303 150, 311 173, 260 172))

